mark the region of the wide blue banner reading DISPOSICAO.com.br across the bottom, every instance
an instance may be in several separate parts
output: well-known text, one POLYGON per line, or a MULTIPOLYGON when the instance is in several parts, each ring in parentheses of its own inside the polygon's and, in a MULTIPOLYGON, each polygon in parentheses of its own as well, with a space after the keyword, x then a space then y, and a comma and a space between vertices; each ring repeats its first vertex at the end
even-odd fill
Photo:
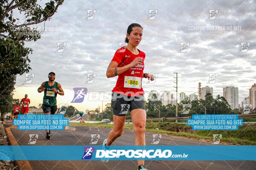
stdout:
POLYGON ((256 146, 0 146, 0 160, 256 160, 256 146))

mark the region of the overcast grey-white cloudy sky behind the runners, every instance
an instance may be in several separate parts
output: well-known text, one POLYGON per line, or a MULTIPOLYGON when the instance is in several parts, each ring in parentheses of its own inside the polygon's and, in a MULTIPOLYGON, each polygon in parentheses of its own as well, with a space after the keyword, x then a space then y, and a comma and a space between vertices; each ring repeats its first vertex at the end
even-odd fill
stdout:
MULTIPOLYGON (((108 64, 119 48, 119 42, 124 42, 127 27, 139 23, 143 27, 143 38, 137 48, 146 54, 144 72, 157 74, 154 84, 143 80, 144 91, 175 90, 173 77, 177 72, 178 93, 198 94, 198 82, 201 82, 202 87, 209 85, 213 88, 214 97, 222 96, 223 87, 233 85, 239 88, 240 104, 256 82, 255 18, 256 3, 253 0, 166 0, 161 3, 158 0, 104 3, 66 0, 47 21, 41 39, 26 42, 26 46, 33 49, 33 54, 29 55, 30 73, 34 73, 35 78, 31 84, 18 87, 14 97, 21 99, 28 94, 31 105, 38 106, 43 94, 39 94, 37 88, 53 71, 56 82, 65 92, 64 96, 57 97, 57 104, 67 103, 82 111, 102 105, 102 102, 88 102, 87 99, 82 103, 70 103, 73 88, 87 88, 87 93, 111 91, 117 77, 106 77, 108 64), (96 14, 93 19, 86 20, 90 9, 96 10, 96 14), (155 10, 155 17, 149 16, 149 10, 155 10), (209 10, 215 10, 215 16, 209 16, 209 10), (197 26, 201 26, 198 30, 201 32, 195 31, 197 26), (65 42, 63 52, 55 52, 57 42, 65 42), (180 51, 180 42, 189 42, 187 50, 180 51), (250 42, 250 45, 239 52, 241 42, 250 42), (96 79, 92 84, 85 84, 89 73, 95 73, 96 79), (218 74, 213 84, 207 84, 209 73, 218 74)), ((24 80, 25 74, 17 76, 15 87, 24 80)))

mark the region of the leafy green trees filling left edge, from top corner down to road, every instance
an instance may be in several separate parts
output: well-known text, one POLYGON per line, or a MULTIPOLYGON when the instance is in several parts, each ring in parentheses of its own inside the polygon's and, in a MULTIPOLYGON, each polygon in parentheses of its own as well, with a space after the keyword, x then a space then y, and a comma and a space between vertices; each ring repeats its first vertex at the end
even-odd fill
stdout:
POLYGON ((29 72, 29 54, 32 49, 24 47, 24 41, 40 39, 42 31, 31 28, 34 24, 46 22, 63 3, 64 0, 50 0, 42 8, 37 0, 1 0, 0 1, 0 119, 10 111, 12 91, 17 74, 29 72), (26 12, 26 20, 14 16, 13 11, 20 14, 26 12))

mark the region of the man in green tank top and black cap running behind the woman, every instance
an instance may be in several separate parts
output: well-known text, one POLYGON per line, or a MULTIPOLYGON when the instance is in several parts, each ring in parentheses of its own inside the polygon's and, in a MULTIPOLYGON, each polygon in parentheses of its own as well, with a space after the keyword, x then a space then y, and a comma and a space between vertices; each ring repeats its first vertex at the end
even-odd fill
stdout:
MULTIPOLYGON (((50 72, 48 74, 49 81, 43 82, 42 85, 38 88, 38 93, 44 91, 44 99, 42 109, 44 114, 55 114, 57 111, 57 94, 64 95, 64 91, 61 88, 61 84, 55 82, 55 73, 50 72)), ((51 139, 51 131, 46 130, 46 139, 51 139)))

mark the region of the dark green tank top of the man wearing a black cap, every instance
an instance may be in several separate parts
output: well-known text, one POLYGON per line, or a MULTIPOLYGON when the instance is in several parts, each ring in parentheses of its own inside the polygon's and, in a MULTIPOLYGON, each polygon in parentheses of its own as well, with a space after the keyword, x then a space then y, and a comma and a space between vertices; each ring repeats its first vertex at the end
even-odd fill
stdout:
POLYGON ((58 82, 55 82, 54 85, 49 86, 48 81, 44 83, 44 99, 43 99, 43 104, 45 105, 50 105, 50 106, 55 106, 57 105, 56 101, 56 96, 57 93, 52 91, 52 88, 56 88, 58 91, 58 82))

